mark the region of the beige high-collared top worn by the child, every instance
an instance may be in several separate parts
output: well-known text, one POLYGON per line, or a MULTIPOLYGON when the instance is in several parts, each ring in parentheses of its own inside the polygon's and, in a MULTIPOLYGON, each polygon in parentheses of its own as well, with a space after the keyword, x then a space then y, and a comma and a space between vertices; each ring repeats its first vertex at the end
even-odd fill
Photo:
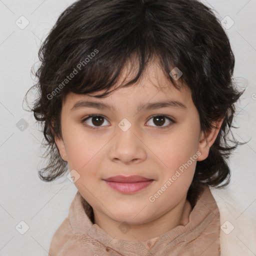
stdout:
POLYGON ((113 239, 92 222, 93 211, 79 191, 68 216, 55 231, 49 256, 219 256, 219 210, 204 186, 186 225, 178 225, 158 237, 143 241, 113 239))

